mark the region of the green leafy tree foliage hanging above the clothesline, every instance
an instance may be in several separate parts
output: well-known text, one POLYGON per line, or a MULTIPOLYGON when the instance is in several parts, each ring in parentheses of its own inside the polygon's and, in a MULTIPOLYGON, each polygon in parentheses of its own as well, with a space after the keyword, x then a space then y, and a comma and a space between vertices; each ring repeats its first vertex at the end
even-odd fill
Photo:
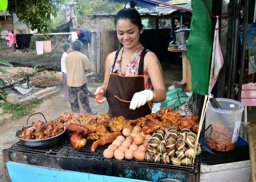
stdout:
POLYGON ((54 28, 51 16, 57 16, 59 4, 65 0, 9 0, 7 10, 16 14, 31 30, 47 33, 54 28))

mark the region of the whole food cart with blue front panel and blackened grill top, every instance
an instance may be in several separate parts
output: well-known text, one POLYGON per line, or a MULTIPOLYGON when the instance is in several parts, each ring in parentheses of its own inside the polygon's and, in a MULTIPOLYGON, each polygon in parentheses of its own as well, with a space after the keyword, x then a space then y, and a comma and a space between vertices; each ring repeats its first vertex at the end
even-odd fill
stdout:
POLYGON ((200 155, 193 166, 174 166, 146 160, 105 159, 103 151, 108 145, 91 152, 91 144, 88 141, 81 150, 74 149, 65 137, 51 147, 33 149, 18 142, 3 150, 6 181, 199 181, 200 155))

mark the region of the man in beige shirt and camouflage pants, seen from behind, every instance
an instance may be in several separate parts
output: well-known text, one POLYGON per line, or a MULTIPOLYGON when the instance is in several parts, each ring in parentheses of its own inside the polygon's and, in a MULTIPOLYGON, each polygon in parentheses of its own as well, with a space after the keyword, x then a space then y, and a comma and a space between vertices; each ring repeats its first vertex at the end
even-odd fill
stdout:
POLYGON ((67 55, 66 68, 67 68, 67 83, 69 86, 69 100, 71 109, 74 113, 80 113, 78 96, 83 106, 83 109, 90 114, 97 114, 92 112, 89 106, 89 99, 86 91, 87 77, 86 72, 91 69, 91 63, 86 55, 83 55, 80 50, 82 42, 79 40, 73 41, 73 50, 67 55))

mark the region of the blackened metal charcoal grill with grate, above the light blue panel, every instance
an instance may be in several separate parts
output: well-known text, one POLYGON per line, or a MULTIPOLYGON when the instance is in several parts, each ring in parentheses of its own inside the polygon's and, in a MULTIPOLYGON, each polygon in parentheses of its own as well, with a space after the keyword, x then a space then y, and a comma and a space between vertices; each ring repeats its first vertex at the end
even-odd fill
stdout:
POLYGON ((163 178, 176 178, 186 181, 188 174, 199 179, 200 155, 194 165, 175 166, 173 164, 156 164, 146 160, 106 159, 103 151, 110 145, 98 146, 95 152, 90 148, 93 141, 80 150, 70 144, 70 138, 64 137, 57 144, 48 148, 28 148, 20 142, 15 143, 3 153, 9 153, 10 161, 43 167, 78 171, 90 174, 117 176, 147 181, 158 181, 163 178), (15 157, 14 157, 15 156, 15 157), (157 174, 157 175, 156 175, 157 174), (161 175, 159 175, 161 174, 161 175))

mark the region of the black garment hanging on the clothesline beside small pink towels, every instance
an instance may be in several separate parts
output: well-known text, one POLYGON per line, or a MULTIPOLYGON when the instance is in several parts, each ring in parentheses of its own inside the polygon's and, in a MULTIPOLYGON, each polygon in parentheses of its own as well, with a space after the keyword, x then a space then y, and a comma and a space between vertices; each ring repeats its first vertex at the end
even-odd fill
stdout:
POLYGON ((21 49, 23 53, 25 51, 28 52, 32 35, 33 34, 17 34, 16 42, 18 47, 15 47, 15 49, 21 49))

